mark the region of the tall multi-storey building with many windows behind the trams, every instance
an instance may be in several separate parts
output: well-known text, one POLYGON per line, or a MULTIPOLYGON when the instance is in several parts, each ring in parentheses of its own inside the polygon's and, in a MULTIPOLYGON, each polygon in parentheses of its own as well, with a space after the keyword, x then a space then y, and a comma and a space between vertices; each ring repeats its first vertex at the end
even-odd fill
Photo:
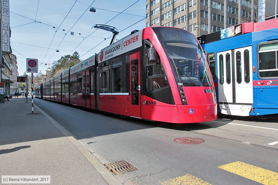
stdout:
POLYGON ((242 22, 254 22, 247 0, 146 0, 146 27, 171 26, 206 35, 242 22))

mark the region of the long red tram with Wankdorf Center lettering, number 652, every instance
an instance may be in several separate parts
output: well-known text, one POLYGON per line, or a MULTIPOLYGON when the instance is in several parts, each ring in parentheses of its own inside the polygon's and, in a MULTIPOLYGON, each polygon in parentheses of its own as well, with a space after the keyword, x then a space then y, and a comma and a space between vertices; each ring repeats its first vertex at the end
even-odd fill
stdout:
POLYGON ((147 27, 43 84, 43 98, 170 123, 217 119, 212 76, 196 37, 147 27))

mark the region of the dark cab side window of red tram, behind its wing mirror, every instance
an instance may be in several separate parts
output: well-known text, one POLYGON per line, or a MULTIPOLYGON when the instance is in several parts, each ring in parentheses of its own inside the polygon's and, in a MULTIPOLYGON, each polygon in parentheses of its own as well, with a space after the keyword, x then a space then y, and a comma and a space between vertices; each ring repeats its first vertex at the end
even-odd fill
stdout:
POLYGON ((145 47, 145 66, 146 66, 146 90, 147 92, 160 90, 160 88, 169 85, 164 74, 160 58, 156 53, 156 61, 150 62, 149 48, 145 47))

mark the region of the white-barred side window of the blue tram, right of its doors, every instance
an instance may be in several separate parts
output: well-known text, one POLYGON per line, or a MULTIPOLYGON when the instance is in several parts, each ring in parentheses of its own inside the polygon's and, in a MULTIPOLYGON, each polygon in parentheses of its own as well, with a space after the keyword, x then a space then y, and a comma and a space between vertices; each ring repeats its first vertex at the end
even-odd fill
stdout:
POLYGON ((278 78, 278 42, 259 45, 259 77, 278 78))

